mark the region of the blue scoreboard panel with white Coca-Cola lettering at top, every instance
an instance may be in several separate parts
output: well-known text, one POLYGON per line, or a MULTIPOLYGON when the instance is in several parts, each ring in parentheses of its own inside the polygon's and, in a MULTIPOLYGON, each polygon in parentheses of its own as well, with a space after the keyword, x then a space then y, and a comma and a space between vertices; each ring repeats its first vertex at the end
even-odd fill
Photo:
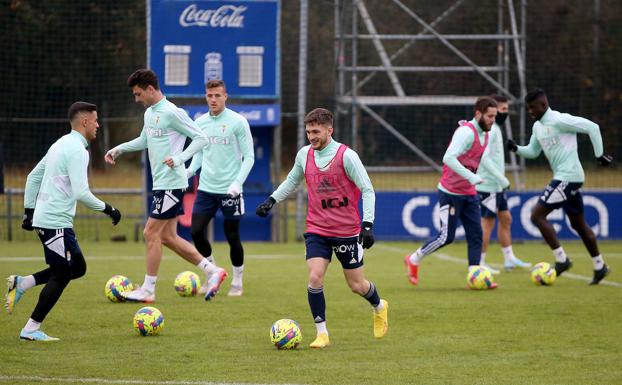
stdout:
POLYGON ((279 97, 279 0, 147 0, 147 62, 168 96, 279 97))

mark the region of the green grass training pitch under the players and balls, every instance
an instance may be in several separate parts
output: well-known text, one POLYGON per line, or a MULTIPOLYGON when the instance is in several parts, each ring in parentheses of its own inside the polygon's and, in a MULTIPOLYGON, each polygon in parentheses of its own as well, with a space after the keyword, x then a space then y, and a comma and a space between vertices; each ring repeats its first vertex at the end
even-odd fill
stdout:
MULTIPOLYGON (((61 384, 67 378, 137 384, 622 383, 619 284, 589 287, 562 276, 551 287, 536 287, 528 272, 516 271, 497 276, 500 288, 495 291, 469 291, 464 288, 464 243, 439 251, 465 260, 463 264, 429 256, 417 287, 407 283, 402 265, 403 255, 417 244, 378 242, 367 252, 367 275, 390 304, 389 334, 379 341, 372 335, 368 304, 349 291, 339 264, 333 263, 325 282, 333 345, 321 351, 308 348, 315 328, 307 305, 303 244, 247 243, 244 296, 219 295, 210 303, 177 296, 175 275, 192 267, 167 251, 155 304, 164 313, 165 327, 156 337, 133 331, 139 304, 111 303, 103 294, 113 274, 142 282, 143 245, 81 246, 87 276, 69 285, 44 323, 44 330, 60 342, 17 339, 39 287, 24 296, 14 314, 0 315, 0 383, 61 384), (301 349, 277 351, 270 344, 270 326, 279 318, 299 321, 301 349)), ((571 273, 591 277, 583 246, 564 246, 575 261, 571 273)), ((601 244, 613 269, 610 282, 622 282, 620 246, 601 244)), ((0 243, 0 277, 43 268, 40 248, 37 242, 0 243)), ((530 262, 552 260, 542 243, 518 244, 515 250, 530 262)), ((230 270, 226 245, 215 245, 215 252, 230 270)), ((498 247, 489 255, 489 262, 501 262, 498 247)))

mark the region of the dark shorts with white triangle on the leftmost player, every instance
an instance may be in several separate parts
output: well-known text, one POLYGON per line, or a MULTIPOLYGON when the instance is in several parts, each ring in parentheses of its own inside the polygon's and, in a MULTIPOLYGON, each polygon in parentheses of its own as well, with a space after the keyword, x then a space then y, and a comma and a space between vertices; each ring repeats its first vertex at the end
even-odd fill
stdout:
POLYGON ((42 229, 37 227, 35 231, 43 245, 45 263, 48 265, 71 265, 73 255, 82 255, 72 228, 42 229))

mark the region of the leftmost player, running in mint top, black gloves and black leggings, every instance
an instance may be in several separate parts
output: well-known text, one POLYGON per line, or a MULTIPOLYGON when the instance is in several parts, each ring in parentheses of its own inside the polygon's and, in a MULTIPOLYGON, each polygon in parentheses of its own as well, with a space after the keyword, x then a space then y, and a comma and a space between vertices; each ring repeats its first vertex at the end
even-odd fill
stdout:
POLYGON ((25 341, 58 340, 45 334, 40 329, 41 323, 69 281, 86 273, 84 255, 73 231, 76 201, 104 212, 112 218, 113 225, 121 220, 119 210, 97 199, 89 190, 86 147, 97 136, 97 106, 75 102, 69 107, 68 116, 71 132, 50 146, 26 179, 22 228, 36 230, 49 267, 31 275, 11 275, 7 279, 9 290, 5 307, 9 313, 26 290, 45 284, 30 319, 19 334, 25 341))

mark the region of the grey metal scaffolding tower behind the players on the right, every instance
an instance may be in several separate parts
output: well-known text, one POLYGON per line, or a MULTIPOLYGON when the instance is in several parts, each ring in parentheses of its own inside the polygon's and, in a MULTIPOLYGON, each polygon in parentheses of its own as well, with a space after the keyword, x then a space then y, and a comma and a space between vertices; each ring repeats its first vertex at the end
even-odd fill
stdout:
MULTIPOLYGON (((448 17, 456 11, 476 12, 481 2, 475 0, 455 0, 447 9, 432 21, 424 20, 415 10, 406 6, 400 0, 383 1, 383 7, 397 6, 401 12, 416 23, 421 30, 416 34, 383 34, 379 33, 376 23, 383 14, 372 14, 368 5, 373 0, 335 0, 335 57, 337 58, 337 78, 335 99, 337 102, 338 118, 346 120, 350 127, 350 138, 347 138, 356 149, 356 138, 359 135, 360 116, 366 114, 374 119, 387 132, 397 138, 417 157, 422 159, 425 166, 406 167, 369 167, 370 171, 431 171, 441 170, 441 165, 400 133, 398 127, 384 118, 377 110, 387 106, 409 106, 421 108, 424 106, 472 106, 477 95, 458 96, 443 94, 441 90, 436 95, 408 95, 404 90, 400 78, 416 73, 471 73, 482 79, 491 89, 506 96, 518 113, 519 135, 521 141, 525 138, 525 108, 523 99, 526 94, 525 86, 525 26, 526 0, 497 0, 497 28, 491 34, 442 34, 437 27, 442 26, 448 17), (406 53, 411 53, 415 43, 423 40, 435 39, 442 44, 442 49, 449 50, 453 57, 458 58, 461 65, 416 65, 416 55, 408 66, 396 66, 393 63, 406 53), (401 41, 401 47, 393 53, 386 49, 387 41, 401 41), (496 63, 482 65, 473 57, 469 57, 454 43, 456 41, 481 41, 482 44, 496 43, 496 63), (371 41, 377 54, 377 65, 363 65, 359 58, 359 46, 365 41, 371 41), (516 76, 510 89, 510 75, 516 76), (390 84, 390 95, 366 94, 365 85, 376 76, 386 76, 390 84), (517 85, 517 86, 516 86, 517 85), (349 122, 348 122, 349 121, 349 122)), ((425 2, 423 2, 425 4, 425 2)), ((378 5, 375 3, 374 5, 378 5)), ((386 20, 383 21, 385 24, 386 20)), ((409 25, 411 27, 412 24, 409 25)), ((482 58, 478 58, 482 60, 482 58)), ((506 121, 505 131, 508 138, 512 138, 510 119, 506 121)), ((510 153, 508 170, 514 173, 514 185, 523 188, 523 178, 520 173, 524 163, 517 164, 514 153, 510 153)), ((522 161, 524 162, 524 160, 522 161)))

